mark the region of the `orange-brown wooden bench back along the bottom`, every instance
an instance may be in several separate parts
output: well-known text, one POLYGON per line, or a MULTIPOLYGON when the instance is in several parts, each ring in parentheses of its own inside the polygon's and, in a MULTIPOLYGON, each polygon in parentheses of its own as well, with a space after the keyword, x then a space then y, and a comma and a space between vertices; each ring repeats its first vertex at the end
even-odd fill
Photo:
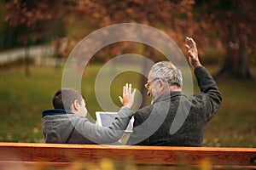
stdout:
POLYGON ((97 164, 102 158, 165 169, 206 163, 212 167, 256 168, 256 148, 0 143, 0 169, 38 162, 54 167, 71 166, 73 162, 97 164))

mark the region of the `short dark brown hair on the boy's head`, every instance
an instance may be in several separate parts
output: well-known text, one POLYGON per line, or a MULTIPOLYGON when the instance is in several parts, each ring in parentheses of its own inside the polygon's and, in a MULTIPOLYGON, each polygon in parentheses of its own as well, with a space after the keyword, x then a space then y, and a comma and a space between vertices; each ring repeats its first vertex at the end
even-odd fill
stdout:
POLYGON ((76 99, 78 99, 79 104, 81 104, 82 99, 84 99, 84 95, 80 94, 73 88, 62 88, 55 93, 52 99, 52 105, 55 109, 71 111, 71 105, 76 99))

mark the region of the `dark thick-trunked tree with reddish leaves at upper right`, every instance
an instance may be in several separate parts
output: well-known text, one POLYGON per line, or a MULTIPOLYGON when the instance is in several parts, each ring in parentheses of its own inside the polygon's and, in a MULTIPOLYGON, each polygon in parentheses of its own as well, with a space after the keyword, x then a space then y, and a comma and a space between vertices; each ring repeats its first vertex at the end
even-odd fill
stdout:
POLYGON ((217 37, 225 50, 219 76, 252 79, 248 53, 255 50, 255 1, 196 1, 199 23, 204 31, 217 37), (214 32, 212 32, 214 31, 214 32))

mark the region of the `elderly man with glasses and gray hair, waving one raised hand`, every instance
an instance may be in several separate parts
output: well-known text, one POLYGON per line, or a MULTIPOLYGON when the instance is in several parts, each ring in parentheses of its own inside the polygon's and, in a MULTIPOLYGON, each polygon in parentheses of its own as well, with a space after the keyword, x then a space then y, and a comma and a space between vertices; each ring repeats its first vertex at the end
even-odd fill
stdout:
POLYGON ((207 122, 218 111, 222 97, 216 82, 198 59, 192 38, 186 38, 187 60, 195 72, 201 93, 187 97, 182 92, 181 71, 170 61, 161 61, 148 73, 152 105, 134 116, 133 133, 127 144, 201 146, 207 122))

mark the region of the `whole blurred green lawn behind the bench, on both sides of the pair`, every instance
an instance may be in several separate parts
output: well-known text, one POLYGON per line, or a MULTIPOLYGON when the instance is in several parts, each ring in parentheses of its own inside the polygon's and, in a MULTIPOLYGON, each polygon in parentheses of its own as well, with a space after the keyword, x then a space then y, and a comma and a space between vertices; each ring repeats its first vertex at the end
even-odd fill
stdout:
MULTIPOLYGON (((218 70, 216 67, 207 68, 212 73, 218 70)), ((100 69, 101 65, 86 67, 81 83, 91 121, 94 121, 95 111, 102 110, 94 89, 100 69)), ((252 71, 255 73, 256 68, 252 71)), ((51 98, 56 89, 61 88, 62 70, 34 66, 31 72, 32 75, 26 77, 21 68, 0 71, 0 141, 44 142, 41 111, 52 108, 51 98)), ((114 105, 120 106, 118 96, 122 94, 122 85, 131 82, 134 88, 139 88, 140 77, 135 72, 114 77, 110 86, 114 105)), ((255 83, 234 79, 217 82, 224 100, 218 114, 207 126, 204 145, 256 147, 255 83)), ((194 87, 198 91, 196 84, 194 87)), ((102 83, 102 88, 106 88, 106 84, 102 83)))

